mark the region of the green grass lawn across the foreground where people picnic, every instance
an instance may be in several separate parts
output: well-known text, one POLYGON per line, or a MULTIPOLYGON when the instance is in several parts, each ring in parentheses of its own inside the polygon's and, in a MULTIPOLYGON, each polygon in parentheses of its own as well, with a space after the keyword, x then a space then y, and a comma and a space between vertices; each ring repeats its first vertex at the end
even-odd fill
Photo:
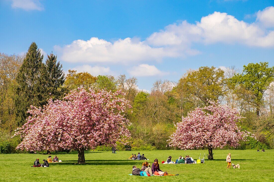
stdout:
MULTIPOLYGON (((169 155, 176 160, 179 155, 190 155, 195 160, 200 153, 207 151, 139 151, 153 163, 166 160, 169 155)), ((213 150, 214 161, 205 160, 204 164, 169 165, 160 164, 162 171, 179 176, 140 177, 130 176, 132 166, 141 168, 140 160, 126 160, 138 151, 118 151, 117 154, 98 151, 86 151, 86 165, 76 165, 76 152, 57 154, 62 163, 50 163, 49 168, 32 168, 36 158, 47 158, 43 154, 1 154, 0 181, 274 181, 274 150, 256 152, 256 150, 213 150), (240 169, 226 169, 226 156, 231 153, 232 163, 240 164, 240 169)), ((53 157, 54 155, 52 155, 53 157)))

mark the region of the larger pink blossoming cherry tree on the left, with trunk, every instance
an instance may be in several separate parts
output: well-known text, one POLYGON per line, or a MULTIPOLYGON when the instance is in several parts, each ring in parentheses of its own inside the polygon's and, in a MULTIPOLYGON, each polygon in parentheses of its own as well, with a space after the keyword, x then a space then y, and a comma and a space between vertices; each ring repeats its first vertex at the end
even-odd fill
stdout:
POLYGON ((22 138, 17 149, 76 149, 78 163, 85 163, 85 150, 130 137, 124 111, 131 106, 120 94, 78 88, 63 100, 49 100, 43 109, 32 107, 27 122, 15 133, 22 138))

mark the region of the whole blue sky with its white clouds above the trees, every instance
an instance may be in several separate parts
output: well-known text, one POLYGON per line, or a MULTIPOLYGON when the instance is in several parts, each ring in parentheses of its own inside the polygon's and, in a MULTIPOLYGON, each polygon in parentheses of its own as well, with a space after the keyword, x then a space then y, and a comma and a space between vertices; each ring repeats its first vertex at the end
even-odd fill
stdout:
POLYGON ((274 66, 274 1, 0 0, 0 52, 36 42, 63 69, 178 81, 200 66, 274 66))

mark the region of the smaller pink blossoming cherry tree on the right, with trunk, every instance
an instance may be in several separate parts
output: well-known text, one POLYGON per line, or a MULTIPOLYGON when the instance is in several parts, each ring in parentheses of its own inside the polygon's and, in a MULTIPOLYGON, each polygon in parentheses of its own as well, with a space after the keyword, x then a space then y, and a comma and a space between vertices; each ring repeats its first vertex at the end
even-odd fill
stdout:
POLYGON ((196 108, 176 124, 176 131, 170 136, 169 146, 180 149, 207 147, 208 159, 213 160, 212 149, 226 145, 236 147, 240 140, 250 135, 236 125, 242 117, 236 108, 219 105, 209 101, 210 105, 196 108))

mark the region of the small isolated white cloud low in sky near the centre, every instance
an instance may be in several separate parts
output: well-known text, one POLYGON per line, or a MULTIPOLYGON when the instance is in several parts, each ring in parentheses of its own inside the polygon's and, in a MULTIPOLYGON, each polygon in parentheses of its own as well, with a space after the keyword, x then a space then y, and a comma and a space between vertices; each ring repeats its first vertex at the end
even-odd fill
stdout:
POLYGON ((155 76, 155 75, 166 75, 166 74, 168 74, 166 72, 161 72, 154 65, 148 65, 148 64, 140 64, 139 66, 133 66, 127 72, 129 72, 130 75, 136 76, 136 77, 138 77, 138 76, 139 77, 146 77, 146 76, 155 76))

